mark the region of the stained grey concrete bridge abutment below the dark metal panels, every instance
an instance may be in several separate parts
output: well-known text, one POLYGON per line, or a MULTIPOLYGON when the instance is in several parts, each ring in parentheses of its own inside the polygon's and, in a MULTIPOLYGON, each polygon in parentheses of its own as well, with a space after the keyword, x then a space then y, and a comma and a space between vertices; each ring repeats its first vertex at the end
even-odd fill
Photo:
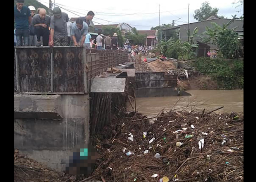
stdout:
POLYGON ((22 114, 15 117, 14 148, 50 168, 61 171, 65 169, 71 150, 78 144, 89 143, 89 96, 17 94, 14 95, 16 112, 45 112, 44 116, 47 117, 48 111, 42 109, 42 102, 38 102, 45 100, 42 97, 57 100, 54 102, 53 112, 61 113, 61 119, 33 118, 34 115, 19 118, 22 114), (37 108, 41 108, 40 111, 37 108))

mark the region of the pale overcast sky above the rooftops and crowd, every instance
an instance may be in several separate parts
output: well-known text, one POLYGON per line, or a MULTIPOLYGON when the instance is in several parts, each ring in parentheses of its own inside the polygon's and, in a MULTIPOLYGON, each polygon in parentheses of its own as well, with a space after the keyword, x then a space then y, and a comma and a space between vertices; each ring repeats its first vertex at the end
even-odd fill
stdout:
MULTIPOLYGON (((48 0, 38 0, 47 7, 48 0)), ((197 22, 194 19, 194 11, 201 7, 206 0, 55 0, 56 6, 61 7, 69 17, 85 16, 89 10, 95 13, 93 22, 97 24, 118 24, 128 23, 137 30, 150 30, 151 27, 159 26, 159 5, 160 24, 169 24, 175 20, 175 26, 188 22, 197 22), (188 11, 189 7, 189 11, 188 11)), ((210 6, 218 8, 218 15, 225 18, 232 18, 237 14, 243 14, 243 8, 232 4, 238 0, 208 0, 210 6), (237 12, 240 11, 240 12, 237 12)), ((54 2, 54 0, 52 0, 54 2)))

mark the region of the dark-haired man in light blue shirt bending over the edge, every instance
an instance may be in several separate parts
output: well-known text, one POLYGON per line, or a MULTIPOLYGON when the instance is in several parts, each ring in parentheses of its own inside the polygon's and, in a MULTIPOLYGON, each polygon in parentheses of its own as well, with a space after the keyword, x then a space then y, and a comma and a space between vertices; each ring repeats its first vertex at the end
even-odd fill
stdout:
POLYGON ((83 19, 76 19, 76 22, 72 24, 71 29, 71 36, 74 41, 74 46, 83 46, 87 33, 88 25, 83 21, 83 19))

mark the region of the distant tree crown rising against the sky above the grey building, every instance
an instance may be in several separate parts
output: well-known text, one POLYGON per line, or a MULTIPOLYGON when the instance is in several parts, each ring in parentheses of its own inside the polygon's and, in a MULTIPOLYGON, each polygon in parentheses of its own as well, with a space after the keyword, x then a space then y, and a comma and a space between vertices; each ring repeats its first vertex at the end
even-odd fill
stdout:
POLYGON ((209 2, 203 2, 200 9, 195 10, 194 19, 198 21, 206 20, 211 16, 218 17, 218 8, 212 8, 209 2))

